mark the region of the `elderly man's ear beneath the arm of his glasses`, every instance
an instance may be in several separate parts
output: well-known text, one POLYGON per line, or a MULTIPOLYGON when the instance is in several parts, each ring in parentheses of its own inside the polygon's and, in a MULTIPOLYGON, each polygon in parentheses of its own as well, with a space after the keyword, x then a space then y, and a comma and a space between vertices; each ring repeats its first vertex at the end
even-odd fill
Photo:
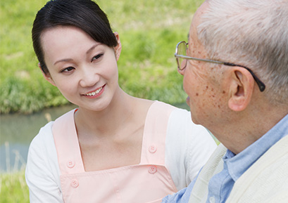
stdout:
POLYGON ((228 106, 233 111, 245 110, 251 101, 254 89, 254 79, 251 73, 243 67, 234 67, 230 72, 230 98, 228 106))

